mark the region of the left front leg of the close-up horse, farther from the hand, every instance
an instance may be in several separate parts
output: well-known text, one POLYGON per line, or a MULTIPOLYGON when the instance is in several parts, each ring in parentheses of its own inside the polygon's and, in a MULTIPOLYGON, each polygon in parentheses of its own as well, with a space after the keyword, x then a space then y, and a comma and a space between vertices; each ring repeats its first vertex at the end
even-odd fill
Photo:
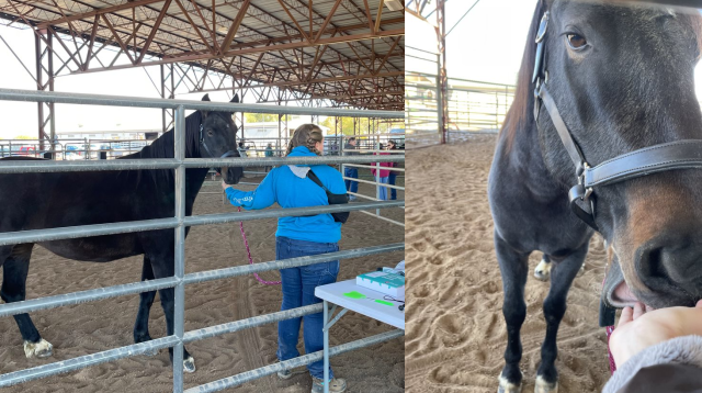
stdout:
POLYGON ((507 242, 495 235, 495 251, 502 274, 502 315, 507 324, 507 349, 505 368, 500 373, 498 393, 519 393, 522 391, 522 372, 519 362, 522 359, 520 330, 526 317, 524 285, 529 273, 529 252, 518 252, 507 242))

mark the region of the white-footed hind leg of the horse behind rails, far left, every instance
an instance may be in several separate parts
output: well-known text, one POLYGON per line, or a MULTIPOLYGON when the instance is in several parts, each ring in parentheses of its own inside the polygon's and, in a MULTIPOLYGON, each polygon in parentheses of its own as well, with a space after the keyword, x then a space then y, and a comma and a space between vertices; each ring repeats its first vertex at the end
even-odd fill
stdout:
MULTIPOLYGON (((0 297, 5 303, 21 302, 26 295, 26 274, 30 271, 30 258, 32 257, 34 244, 23 244, 8 246, 5 248, 4 263, 2 263, 2 288, 0 297)), ((0 250, 0 262, 2 259, 0 250)), ((30 314, 14 315, 14 321, 20 327, 20 333, 24 339, 24 355, 31 358, 46 358, 53 355, 54 346, 39 336, 36 326, 30 318, 30 314)))

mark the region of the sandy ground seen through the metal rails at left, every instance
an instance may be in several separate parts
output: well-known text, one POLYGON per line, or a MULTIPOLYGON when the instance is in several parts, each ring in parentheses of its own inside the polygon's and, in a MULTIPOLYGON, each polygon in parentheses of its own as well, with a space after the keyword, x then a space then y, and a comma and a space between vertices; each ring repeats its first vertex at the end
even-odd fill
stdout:
MULTIPOLYGON (((404 179, 399 178, 398 186, 403 184, 404 179)), ((241 186, 240 189, 251 190, 252 187, 241 186)), ((207 186, 203 191, 214 193, 199 195, 194 214, 236 211, 228 203, 223 204, 218 183, 207 186)), ((371 195, 372 187, 361 184, 361 192, 371 195)), ((398 196, 404 199, 404 193, 400 192, 398 196)), ((400 209, 383 210, 383 214, 397 221, 404 217, 400 209)), ((254 262, 275 259, 275 226, 276 220, 245 223, 254 262)), ((401 227, 352 212, 343 226, 340 248, 401 243, 404 239, 401 227)), ((238 223, 192 228, 185 243, 185 258, 186 273, 247 263, 238 223)), ((346 259, 341 261, 339 280, 351 279, 377 267, 395 266, 403 259, 403 251, 346 259)), ((37 246, 27 279, 27 299, 134 282, 139 280, 140 272, 141 257, 110 263, 77 262, 37 246)), ((261 277, 276 280, 280 274, 272 271, 263 272, 261 277)), ((280 311, 280 288, 262 285, 253 276, 188 285, 185 332, 273 313, 280 311)), ((0 373, 131 345, 137 306, 138 295, 127 295, 33 313, 39 333, 54 345, 54 356, 48 359, 27 360, 13 318, 0 318, 0 373)), ((166 336, 166 322, 158 296, 151 308, 149 329, 154 338, 166 336)), ((392 329, 388 325, 350 312, 332 327, 330 344, 335 346, 392 329)), ((185 389, 275 362, 276 337, 276 324, 269 324, 188 345, 197 371, 185 374, 185 389)), ((302 337, 299 348, 304 353, 302 337)), ((404 392, 405 339, 340 355, 331 359, 331 366, 337 377, 347 379, 348 392, 404 392)), ((287 381, 279 381, 275 375, 270 375, 228 391, 308 393, 310 388, 309 375, 304 373, 287 381)), ((2 393, 171 391, 172 371, 167 350, 154 357, 123 359, 0 389, 2 393)))

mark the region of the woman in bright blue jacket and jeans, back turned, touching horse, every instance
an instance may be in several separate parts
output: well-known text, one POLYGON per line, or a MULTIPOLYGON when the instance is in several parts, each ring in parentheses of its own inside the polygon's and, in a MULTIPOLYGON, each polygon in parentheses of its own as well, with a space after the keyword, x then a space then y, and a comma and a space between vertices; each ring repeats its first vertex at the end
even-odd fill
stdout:
MULTIPOLYGON (((303 124, 293 134, 287 146, 287 157, 315 157, 324 150, 321 130, 315 124, 303 124)), ((227 199, 235 206, 247 210, 265 209, 278 202, 283 209, 306 207, 329 204, 325 190, 313 182, 307 172, 313 171, 321 183, 332 193, 347 192, 341 173, 327 165, 286 165, 271 170, 259 187, 249 192, 235 190, 222 183, 227 199)), ((333 252, 339 250, 341 239, 341 223, 335 222, 331 214, 317 214, 303 217, 278 218, 275 233, 275 258, 288 259, 309 255, 333 252)), ((301 268, 281 270, 283 282, 283 304, 281 310, 291 310, 309 304, 320 303, 315 296, 315 288, 337 281, 339 261, 315 263, 301 268)), ((297 341, 299 326, 304 318, 305 352, 312 353, 324 348, 322 344, 322 313, 305 315, 278 323, 278 359, 280 361, 299 356, 297 341)), ((324 390, 324 362, 316 361, 307 366, 313 377, 313 393, 324 390)), ((281 379, 293 377, 291 370, 278 373, 281 379)), ((347 383, 342 379, 335 379, 329 370, 329 392, 346 391, 347 383)))

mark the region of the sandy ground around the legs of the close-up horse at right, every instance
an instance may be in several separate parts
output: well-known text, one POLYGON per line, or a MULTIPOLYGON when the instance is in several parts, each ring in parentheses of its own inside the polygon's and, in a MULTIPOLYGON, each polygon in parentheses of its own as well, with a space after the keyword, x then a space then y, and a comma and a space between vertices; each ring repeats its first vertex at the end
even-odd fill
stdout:
MULTIPOLYGON (((502 282, 492 245, 487 175, 495 136, 408 153, 406 242, 408 393, 492 393, 507 344, 502 282)), ((532 255, 530 270, 540 254, 532 255)), ((599 392, 609 378, 607 337, 598 327, 604 267, 600 237, 576 279, 558 333, 561 393, 599 392)), ((533 392, 546 325, 548 284, 530 274, 522 327, 524 392, 533 392)))

